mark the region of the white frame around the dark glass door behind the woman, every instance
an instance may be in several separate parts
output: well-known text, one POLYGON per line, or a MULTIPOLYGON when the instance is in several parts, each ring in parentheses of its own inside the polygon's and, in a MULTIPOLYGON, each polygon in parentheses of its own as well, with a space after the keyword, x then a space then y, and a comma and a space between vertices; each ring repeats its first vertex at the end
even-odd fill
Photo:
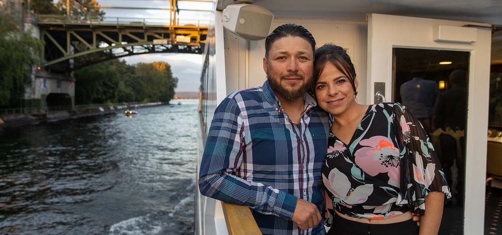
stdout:
MULTIPOLYGON (((393 48, 465 51, 470 53, 465 136, 466 168, 463 230, 464 234, 483 234, 491 51, 491 31, 487 27, 491 27, 491 25, 382 14, 368 14, 367 20, 367 103, 374 103, 375 82, 385 82, 386 101, 393 101, 393 48), (434 27, 454 26, 459 29, 466 25, 479 26, 474 28, 475 42, 434 41, 434 27)), ((470 31, 472 32, 472 30, 470 31)), ((453 36, 459 38, 458 35, 453 36)), ((461 37, 460 40, 462 40, 461 37)))

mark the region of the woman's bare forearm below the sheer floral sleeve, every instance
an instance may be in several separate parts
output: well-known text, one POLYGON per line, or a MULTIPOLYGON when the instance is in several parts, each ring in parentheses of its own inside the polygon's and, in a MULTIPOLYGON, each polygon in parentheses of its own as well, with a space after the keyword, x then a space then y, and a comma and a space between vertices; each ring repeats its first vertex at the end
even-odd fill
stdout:
POLYGON ((438 234, 443 216, 444 193, 429 192, 425 196, 425 213, 420 217, 420 235, 438 234))

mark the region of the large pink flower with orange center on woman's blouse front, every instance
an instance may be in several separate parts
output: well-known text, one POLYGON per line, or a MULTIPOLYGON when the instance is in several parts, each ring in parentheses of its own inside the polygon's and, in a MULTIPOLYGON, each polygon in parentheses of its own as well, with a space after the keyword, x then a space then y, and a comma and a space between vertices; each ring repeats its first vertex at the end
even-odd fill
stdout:
POLYGON ((373 136, 360 141, 359 144, 367 147, 355 152, 355 164, 371 176, 387 173, 388 183, 399 187, 400 154, 392 141, 384 136, 373 136))

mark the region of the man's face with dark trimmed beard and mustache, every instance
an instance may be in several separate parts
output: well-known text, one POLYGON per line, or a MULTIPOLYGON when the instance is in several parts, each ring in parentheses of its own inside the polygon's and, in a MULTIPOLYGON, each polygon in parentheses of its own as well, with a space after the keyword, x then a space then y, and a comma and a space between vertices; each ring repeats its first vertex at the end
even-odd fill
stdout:
POLYGON ((312 46, 300 37, 280 38, 263 59, 263 68, 277 96, 288 101, 303 97, 314 70, 312 46))

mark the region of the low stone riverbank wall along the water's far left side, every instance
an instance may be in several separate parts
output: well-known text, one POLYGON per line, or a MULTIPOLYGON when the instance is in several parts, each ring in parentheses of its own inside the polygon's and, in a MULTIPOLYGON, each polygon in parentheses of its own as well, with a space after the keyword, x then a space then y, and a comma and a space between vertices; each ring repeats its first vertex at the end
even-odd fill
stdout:
POLYGON ((60 120, 77 119, 84 116, 102 115, 112 112, 122 112, 128 108, 141 108, 165 105, 164 102, 151 102, 132 105, 117 105, 117 106, 89 106, 80 107, 75 110, 56 110, 44 113, 15 113, 15 114, 0 114, 0 127, 17 127, 23 125, 36 125, 40 123, 57 122, 60 120))

